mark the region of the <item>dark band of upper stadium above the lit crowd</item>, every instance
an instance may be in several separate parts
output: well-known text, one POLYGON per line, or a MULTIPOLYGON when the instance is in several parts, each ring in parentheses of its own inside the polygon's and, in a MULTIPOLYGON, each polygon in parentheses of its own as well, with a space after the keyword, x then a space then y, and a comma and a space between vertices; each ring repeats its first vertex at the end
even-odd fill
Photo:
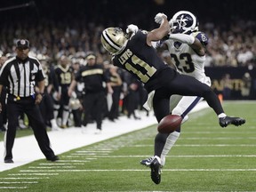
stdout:
MULTIPOLYGON (((27 4, 28 0, 9 0, 1 3, 1 8, 18 4, 27 4)), ((165 12, 169 17, 180 10, 194 12, 202 22, 209 20, 215 23, 237 19, 255 20, 255 1, 217 0, 217 1, 189 1, 189 0, 36 0, 36 7, 30 9, 13 9, 1 12, 1 23, 19 20, 24 23, 35 21, 36 17, 46 20, 77 19, 100 24, 126 25, 136 21, 141 28, 149 28, 154 24, 153 19, 157 12, 165 12), (22 16, 22 17, 21 17, 22 16)), ((84 23, 86 25, 86 23, 84 23)))

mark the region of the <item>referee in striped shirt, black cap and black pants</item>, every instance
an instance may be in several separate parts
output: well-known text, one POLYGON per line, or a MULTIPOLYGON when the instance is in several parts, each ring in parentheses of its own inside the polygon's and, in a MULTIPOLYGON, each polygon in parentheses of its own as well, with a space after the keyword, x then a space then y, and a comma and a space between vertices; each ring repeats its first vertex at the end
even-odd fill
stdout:
MULTIPOLYGON (((36 58, 28 57, 29 42, 20 39, 16 43, 16 57, 6 60, 0 71, 0 94, 3 86, 7 88, 7 131, 4 137, 4 163, 13 163, 12 147, 18 126, 20 113, 28 116, 36 141, 44 156, 49 161, 59 160, 50 147, 43 117, 38 105, 44 96, 44 72, 41 64, 36 58), (39 92, 35 92, 35 85, 39 92)), ((3 103, 4 100, 1 100, 3 103)), ((2 110, 2 104, 0 105, 2 110)))

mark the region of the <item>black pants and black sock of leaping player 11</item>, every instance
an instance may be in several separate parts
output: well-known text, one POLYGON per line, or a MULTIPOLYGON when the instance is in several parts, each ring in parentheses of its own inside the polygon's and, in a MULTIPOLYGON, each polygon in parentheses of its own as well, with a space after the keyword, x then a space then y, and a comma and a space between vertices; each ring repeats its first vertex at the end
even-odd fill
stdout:
MULTIPOLYGON (((172 94, 203 97, 217 115, 224 113, 218 96, 207 84, 197 81, 194 77, 178 73, 173 79, 169 80, 168 74, 171 74, 168 70, 161 74, 161 76, 166 76, 165 82, 161 81, 161 84, 164 84, 164 86, 156 89, 153 98, 153 108, 158 122, 164 116, 170 114, 170 97, 172 94)), ((157 133, 155 138, 155 156, 161 156, 167 137, 168 134, 166 133, 157 133)))

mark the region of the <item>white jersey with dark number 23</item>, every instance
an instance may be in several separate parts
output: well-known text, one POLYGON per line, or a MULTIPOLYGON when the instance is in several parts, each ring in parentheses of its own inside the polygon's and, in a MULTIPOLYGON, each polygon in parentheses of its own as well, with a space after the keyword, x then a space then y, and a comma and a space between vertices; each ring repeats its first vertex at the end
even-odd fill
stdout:
MULTIPOLYGON (((192 33, 199 41, 207 43, 208 38, 202 32, 192 33)), ((171 54, 172 63, 175 64, 180 74, 193 76, 197 80, 211 85, 209 77, 204 73, 205 55, 199 56, 188 44, 174 42, 172 39, 164 41, 171 54)))

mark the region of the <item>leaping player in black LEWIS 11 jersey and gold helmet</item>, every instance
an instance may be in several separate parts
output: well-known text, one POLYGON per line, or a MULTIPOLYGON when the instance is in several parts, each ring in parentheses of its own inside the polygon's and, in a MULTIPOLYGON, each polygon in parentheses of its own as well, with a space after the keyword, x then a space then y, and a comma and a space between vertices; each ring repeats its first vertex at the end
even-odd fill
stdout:
MULTIPOLYGON (((170 97, 172 94, 203 97, 209 106, 213 108, 219 117, 222 127, 228 124, 241 125, 245 123, 243 118, 230 117, 224 113, 220 100, 212 89, 194 77, 180 75, 174 69, 164 64, 164 61, 156 54, 152 42, 158 41, 170 32, 169 22, 164 13, 158 13, 155 17, 160 27, 149 32, 143 32, 133 25, 128 26, 128 34, 121 28, 106 28, 101 35, 101 44, 113 55, 113 64, 124 68, 139 79, 148 93, 155 92, 153 108, 157 122, 170 114, 170 97)), ((151 180, 156 184, 161 182, 160 157, 167 133, 156 134, 155 156, 151 164, 151 180)))

